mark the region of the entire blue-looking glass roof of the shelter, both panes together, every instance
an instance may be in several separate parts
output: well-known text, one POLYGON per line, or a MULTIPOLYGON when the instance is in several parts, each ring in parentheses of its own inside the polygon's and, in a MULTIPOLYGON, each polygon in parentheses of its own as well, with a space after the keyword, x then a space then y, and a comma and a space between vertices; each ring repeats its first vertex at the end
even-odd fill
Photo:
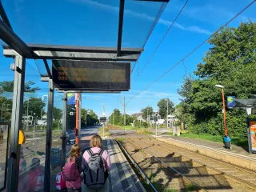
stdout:
MULTIPOLYGON (((14 32, 28 44, 117 47, 119 0, 3 0, 2 4, 14 32)), ((122 47, 142 48, 165 7, 166 1, 126 0, 122 47)))

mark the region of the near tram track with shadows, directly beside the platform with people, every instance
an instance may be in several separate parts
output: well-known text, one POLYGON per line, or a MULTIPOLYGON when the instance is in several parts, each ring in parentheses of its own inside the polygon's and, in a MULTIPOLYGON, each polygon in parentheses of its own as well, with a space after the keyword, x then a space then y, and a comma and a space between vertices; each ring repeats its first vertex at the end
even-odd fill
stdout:
MULTIPOLYGON (((152 187, 154 191, 206 191, 201 186, 194 183, 190 178, 186 178, 185 175, 179 173, 177 170, 172 169, 166 165, 160 159, 146 153, 145 151, 138 152, 138 146, 129 142, 130 146, 134 146, 134 153, 128 152, 120 142, 118 142, 122 150, 134 163, 137 169, 142 174, 142 177, 152 187), (130 154, 131 153, 131 154, 130 154), (138 154, 139 153, 139 154, 138 154), (134 154, 141 156, 141 160, 138 164, 132 157, 134 154)), ((127 143, 126 143, 127 144, 127 143)), ((138 157, 137 157, 138 160, 138 157)))

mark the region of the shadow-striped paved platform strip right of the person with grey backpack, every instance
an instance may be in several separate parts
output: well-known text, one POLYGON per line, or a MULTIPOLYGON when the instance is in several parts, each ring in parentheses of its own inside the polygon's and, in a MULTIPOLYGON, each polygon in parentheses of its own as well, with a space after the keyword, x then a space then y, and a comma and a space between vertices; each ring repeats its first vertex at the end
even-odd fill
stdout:
POLYGON ((110 171, 110 191, 146 191, 131 168, 126 157, 122 154, 117 142, 112 139, 104 139, 104 148, 110 154, 112 168, 110 171))

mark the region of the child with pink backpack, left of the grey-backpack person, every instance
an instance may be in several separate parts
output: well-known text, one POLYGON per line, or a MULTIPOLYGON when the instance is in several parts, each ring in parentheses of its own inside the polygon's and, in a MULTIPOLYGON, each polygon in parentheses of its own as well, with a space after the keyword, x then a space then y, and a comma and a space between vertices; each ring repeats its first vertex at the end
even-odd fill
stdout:
POLYGON ((62 176, 66 181, 68 192, 81 192, 82 157, 78 144, 74 144, 70 150, 70 157, 63 168, 62 176))

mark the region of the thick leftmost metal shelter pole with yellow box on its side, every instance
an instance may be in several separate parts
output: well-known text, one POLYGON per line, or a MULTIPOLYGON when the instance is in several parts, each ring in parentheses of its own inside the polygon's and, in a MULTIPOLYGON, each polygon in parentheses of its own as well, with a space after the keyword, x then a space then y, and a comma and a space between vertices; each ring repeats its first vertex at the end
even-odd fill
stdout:
POLYGON ((24 96, 24 79, 26 59, 21 56, 15 57, 14 70, 14 96, 11 114, 10 130, 10 154, 8 158, 7 190, 18 190, 18 173, 20 159, 20 145, 18 144, 18 132, 22 129, 22 110, 24 96))

